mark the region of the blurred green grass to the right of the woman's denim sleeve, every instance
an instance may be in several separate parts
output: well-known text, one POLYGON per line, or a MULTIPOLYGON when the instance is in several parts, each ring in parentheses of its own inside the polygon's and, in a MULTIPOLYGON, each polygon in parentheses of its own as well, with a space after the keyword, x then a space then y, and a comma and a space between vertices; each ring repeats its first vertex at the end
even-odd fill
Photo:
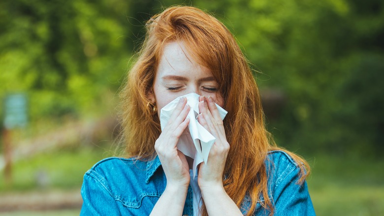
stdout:
POLYGON ((308 181, 319 216, 384 215, 383 160, 319 155, 308 181))

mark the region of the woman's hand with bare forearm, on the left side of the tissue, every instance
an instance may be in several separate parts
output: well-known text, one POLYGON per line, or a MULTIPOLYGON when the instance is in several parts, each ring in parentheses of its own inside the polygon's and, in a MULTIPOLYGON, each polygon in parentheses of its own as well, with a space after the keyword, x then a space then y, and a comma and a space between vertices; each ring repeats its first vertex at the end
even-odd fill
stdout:
POLYGON ((181 215, 183 213, 191 177, 187 159, 183 153, 177 150, 177 143, 190 123, 190 119, 187 118, 189 111, 187 99, 181 98, 159 139, 155 142, 155 150, 164 170, 167 185, 152 209, 151 216, 181 215))

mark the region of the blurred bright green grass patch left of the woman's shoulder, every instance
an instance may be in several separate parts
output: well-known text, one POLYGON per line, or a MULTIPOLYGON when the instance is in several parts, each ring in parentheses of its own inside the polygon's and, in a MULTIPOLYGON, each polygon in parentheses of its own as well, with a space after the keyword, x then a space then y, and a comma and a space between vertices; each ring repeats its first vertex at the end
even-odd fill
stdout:
POLYGON ((12 166, 10 185, 5 185, 4 178, 0 177, 0 192, 80 188, 85 172, 110 155, 102 147, 72 146, 17 161, 12 166))

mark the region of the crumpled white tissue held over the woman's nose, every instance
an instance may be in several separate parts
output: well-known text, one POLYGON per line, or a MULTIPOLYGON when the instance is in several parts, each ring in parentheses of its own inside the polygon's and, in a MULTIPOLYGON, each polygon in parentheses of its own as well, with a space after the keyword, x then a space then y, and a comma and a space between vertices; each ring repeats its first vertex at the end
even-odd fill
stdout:
MULTIPOLYGON (((197 165, 201 162, 207 164, 209 151, 215 143, 216 138, 200 125, 197 120, 197 115, 200 113, 198 106, 199 95, 195 93, 180 96, 160 110, 161 130, 164 129, 181 97, 187 98, 187 104, 191 107, 191 110, 187 116, 190 119, 190 123, 188 124, 188 128, 186 128, 181 135, 179 143, 177 143, 177 149, 193 159, 194 178, 197 165)), ((217 104, 216 107, 219 110, 220 117, 224 120, 227 111, 217 104)))

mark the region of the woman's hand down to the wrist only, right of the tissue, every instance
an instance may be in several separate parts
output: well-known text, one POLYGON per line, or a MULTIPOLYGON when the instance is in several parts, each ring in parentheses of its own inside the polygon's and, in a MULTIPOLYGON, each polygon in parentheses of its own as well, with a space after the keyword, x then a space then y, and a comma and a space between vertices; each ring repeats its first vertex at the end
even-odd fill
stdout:
POLYGON ((197 117, 199 123, 216 138, 209 152, 207 164, 201 163, 199 168, 197 182, 203 192, 204 189, 223 188, 223 172, 229 144, 226 141, 223 120, 213 99, 201 96, 199 109, 200 114, 197 117))

